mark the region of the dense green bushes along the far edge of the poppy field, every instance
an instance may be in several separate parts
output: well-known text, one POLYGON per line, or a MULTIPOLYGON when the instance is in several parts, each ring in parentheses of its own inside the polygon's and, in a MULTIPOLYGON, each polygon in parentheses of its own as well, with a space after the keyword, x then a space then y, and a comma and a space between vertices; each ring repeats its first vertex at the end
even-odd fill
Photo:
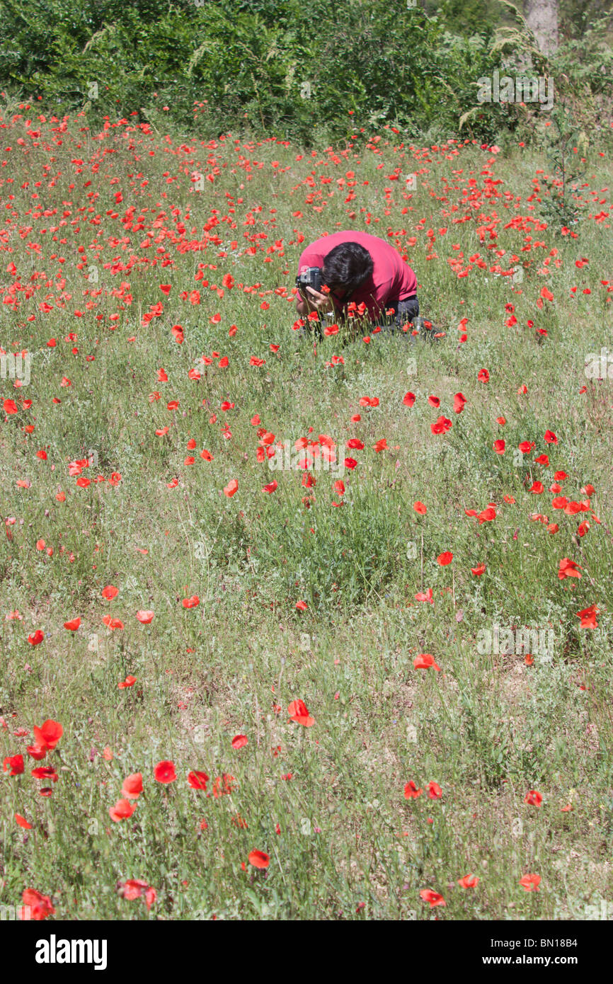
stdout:
MULTIPOLYGON (((500 66, 496 7, 499 23, 513 19, 509 5, 473 3, 459 19, 451 2, 429 16, 404 0, 4 0, 0 88, 94 122, 136 113, 308 144, 386 123, 443 139, 478 108, 470 135, 494 140, 519 118, 515 106, 476 107, 477 80, 500 66)), ((610 88, 610 65, 596 46, 583 96, 610 88)))

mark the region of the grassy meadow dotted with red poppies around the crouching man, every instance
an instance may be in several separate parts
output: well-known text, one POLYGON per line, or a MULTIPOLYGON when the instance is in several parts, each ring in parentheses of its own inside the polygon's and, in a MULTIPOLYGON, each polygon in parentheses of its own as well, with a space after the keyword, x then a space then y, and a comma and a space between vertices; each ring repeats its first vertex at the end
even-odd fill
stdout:
POLYGON ((0 904, 18 905, 34 888, 59 919, 590 918, 613 888, 613 392, 583 372, 611 327, 613 293, 601 282, 612 269, 610 222, 590 217, 610 209, 601 189, 613 174, 599 148, 573 239, 532 221, 531 181, 545 166, 532 151, 409 150, 384 132, 342 152, 227 137, 186 153, 180 140, 123 125, 83 132, 83 118, 61 135, 36 121, 37 138, 23 118, 6 122, 0 340, 31 352, 31 381, 1 381, 18 412, 0 429, 2 513, 15 521, 0 555, 0 758, 23 754, 26 767, 0 781, 0 904), (412 197, 387 177, 397 165, 402 175, 421 169, 412 197), (215 167, 215 180, 193 191, 190 175, 215 167), (471 179, 477 197, 466 204, 471 179), (347 180, 356 182, 349 202, 347 180), (126 227, 141 214, 142 228, 126 227), (530 220, 507 227, 518 215, 530 220), (218 238, 207 241, 204 226, 218 238), (445 338, 298 338, 283 294, 301 243, 343 227, 393 233, 417 272, 422 313, 445 338), (521 256, 521 284, 488 271, 496 249, 521 256), (448 260, 460 253, 470 270, 459 278, 448 260), (477 254, 484 269, 468 260, 477 254), (222 297, 203 287, 201 264, 210 284, 231 274, 234 286, 222 297), (159 284, 170 284, 169 296, 159 284), (540 309, 543 286, 554 300, 540 309), (200 305, 189 300, 195 289, 200 305), (144 324, 160 301, 161 315, 144 324), (214 351, 225 368, 217 357, 197 361, 214 351), (333 355, 343 362, 332 365, 333 355), (251 365, 254 356, 265 362, 251 365), (193 367, 200 380, 188 377, 193 367), (466 404, 456 414, 459 392, 466 404), (379 405, 360 406, 366 396, 379 405), (233 408, 221 410, 223 400, 233 408), (307 488, 301 472, 257 460, 255 414, 276 442, 326 434, 364 443, 349 452, 358 463, 341 476, 342 506, 333 506, 341 497, 331 472, 314 472, 307 488), (431 431, 439 415, 453 423, 445 435, 431 431), (546 430, 557 445, 545 443, 546 430), (382 438, 388 450, 376 453, 382 438), (493 451, 498 438, 504 456, 493 451), (522 441, 535 448, 520 461, 522 441), (90 453, 83 475, 105 480, 79 487, 68 465, 90 453), (549 467, 534 463, 542 453, 549 467), (593 485, 600 523, 552 509, 557 470, 568 474, 569 500, 585 500, 582 486, 593 485), (273 478, 269 495, 262 488, 273 478), (238 491, 228 498, 231 479, 238 491), (535 479, 542 495, 528 492, 535 479), (465 515, 490 502, 492 522, 465 515), (558 531, 530 519, 537 513, 558 531), (444 551, 454 559, 442 567, 444 551), (558 578, 565 557, 581 579, 558 578), (111 601, 100 593, 107 584, 119 589, 111 601), (417 601, 428 588, 434 603, 417 601), (193 594, 199 605, 185 609, 193 594), (593 603, 598 628, 582 629, 577 612, 593 603), (142 609, 153 610, 150 625, 136 619, 142 609), (106 614, 124 628, 107 629, 106 614), (64 629, 76 616, 78 631, 64 629), (552 629, 552 658, 527 665, 521 652, 482 654, 479 633, 497 625, 552 629), (44 640, 31 646, 36 629, 44 640), (424 652, 440 672, 413 668, 424 652), (128 674, 136 684, 118 689, 128 674), (288 720, 297 699, 312 727, 288 720), (26 748, 46 718, 64 734, 36 763, 26 748), (237 734, 248 739, 240 750, 237 734), (167 786, 153 778, 162 760, 177 771, 167 786), (46 764, 58 774, 50 797, 30 774, 46 764), (207 791, 189 788, 192 769, 208 773, 207 791), (137 809, 113 823, 109 807, 139 771, 137 809), (224 774, 231 792, 215 796, 224 774), (404 797, 409 780, 423 789, 417 799, 404 797), (430 781, 442 798, 428 797, 430 781), (540 807, 524 802, 532 789, 540 807), (270 856, 267 870, 249 864, 254 849, 270 856), (478 886, 463 890, 469 873, 478 886), (519 884, 530 873, 541 877, 538 892, 519 884), (120 896, 126 879, 156 889, 149 914, 142 899, 120 896), (431 910, 425 889, 446 906, 431 910))

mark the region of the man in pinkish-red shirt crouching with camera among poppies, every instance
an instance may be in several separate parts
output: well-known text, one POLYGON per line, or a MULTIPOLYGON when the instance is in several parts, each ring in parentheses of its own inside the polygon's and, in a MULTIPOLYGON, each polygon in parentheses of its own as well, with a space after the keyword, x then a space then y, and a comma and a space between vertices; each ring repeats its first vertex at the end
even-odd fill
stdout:
POLYGON ((349 313, 383 325, 394 317, 394 331, 419 314, 415 274, 390 243, 367 232, 334 232, 311 243, 300 257, 296 283, 300 316, 349 313), (389 311, 393 315, 386 317, 389 311))

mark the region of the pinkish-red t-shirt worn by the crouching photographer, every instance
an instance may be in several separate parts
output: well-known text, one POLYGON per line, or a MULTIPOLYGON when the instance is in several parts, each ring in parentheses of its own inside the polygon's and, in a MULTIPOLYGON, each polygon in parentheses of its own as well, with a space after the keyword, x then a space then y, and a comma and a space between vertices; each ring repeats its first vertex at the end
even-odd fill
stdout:
MULTIPOLYGON (((386 308, 394 301, 404 301, 408 297, 415 297, 417 293, 417 277, 414 272, 404 263, 402 257, 386 242, 378 236, 371 236, 368 232, 333 232, 332 235, 322 236, 310 246, 307 246, 302 256, 298 270, 302 267, 323 267, 324 258, 331 250, 340 243, 356 242, 364 249, 367 249, 373 258, 373 273, 362 285, 351 294, 349 301, 355 304, 365 304, 366 313, 373 321, 377 321, 386 308)), ((335 298, 337 309, 340 304, 335 298)))

